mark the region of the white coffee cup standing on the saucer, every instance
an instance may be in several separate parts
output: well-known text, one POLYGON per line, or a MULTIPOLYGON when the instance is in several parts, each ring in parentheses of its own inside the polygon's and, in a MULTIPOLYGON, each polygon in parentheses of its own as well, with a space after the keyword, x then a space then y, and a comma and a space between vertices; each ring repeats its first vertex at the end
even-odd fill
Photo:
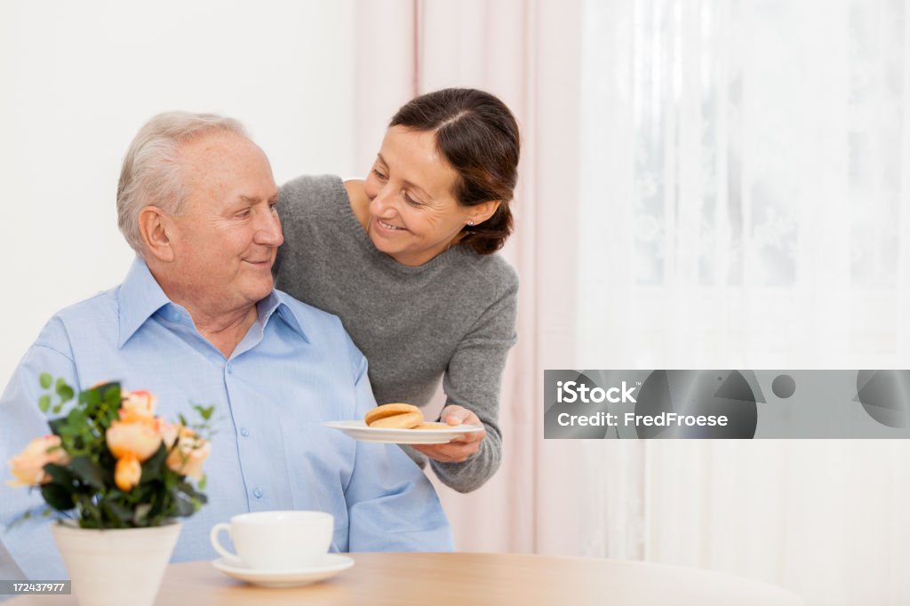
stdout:
POLYGON ((218 522, 209 537, 218 553, 249 568, 294 571, 319 564, 334 528, 332 514, 324 511, 255 511, 234 516, 230 523, 218 522), (236 554, 218 542, 221 530, 234 541, 236 554))

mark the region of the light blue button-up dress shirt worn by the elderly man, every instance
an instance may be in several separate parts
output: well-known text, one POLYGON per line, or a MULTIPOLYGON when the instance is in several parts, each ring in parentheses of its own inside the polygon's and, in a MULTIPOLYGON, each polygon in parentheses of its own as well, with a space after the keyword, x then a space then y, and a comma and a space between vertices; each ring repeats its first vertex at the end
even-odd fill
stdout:
MULTIPOLYGON (((212 525, 263 510, 331 512, 332 550, 451 550, 436 492, 401 449, 321 425, 362 419, 376 405, 367 360, 339 319, 279 290, 257 309, 225 359, 136 259, 122 285, 60 311, 25 354, 0 398, 2 461, 49 432, 36 405, 40 373, 83 389, 120 380, 154 393, 167 420, 182 412, 192 421, 193 404, 215 405, 208 504, 180 519, 173 561, 214 559, 212 525)), ((0 478, 11 478, 5 466, 0 478)), ((0 482, 0 521, 41 503, 37 491, 0 482)), ((0 541, 28 578, 67 578, 47 520, 0 531, 0 541)))

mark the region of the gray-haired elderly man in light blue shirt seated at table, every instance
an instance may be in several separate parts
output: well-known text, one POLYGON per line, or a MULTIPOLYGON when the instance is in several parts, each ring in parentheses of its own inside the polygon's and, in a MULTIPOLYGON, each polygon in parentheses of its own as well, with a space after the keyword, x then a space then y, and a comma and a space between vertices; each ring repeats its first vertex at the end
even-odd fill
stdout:
MULTIPOLYGON (((436 493, 399 448, 321 425, 375 406, 367 361, 338 318, 273 289, 277 201, 268 159, 238 122, 149 121, 117 189, 136 260, 119 287, 51 318, 25 354, 0 399, 2 460, 47 432, 40 373, 83 388, 119 379, 155 393, 165 418, 215 405, 209 502, 185 522, 176 561, 213 558, 212 525, 260 510, 331 512, 332 550, 450 550, 436 493)), ((38 504, 0 488, 4 522, 38 504)), ((46 524, 0 541, 25 576, 66 578, 46 524)))

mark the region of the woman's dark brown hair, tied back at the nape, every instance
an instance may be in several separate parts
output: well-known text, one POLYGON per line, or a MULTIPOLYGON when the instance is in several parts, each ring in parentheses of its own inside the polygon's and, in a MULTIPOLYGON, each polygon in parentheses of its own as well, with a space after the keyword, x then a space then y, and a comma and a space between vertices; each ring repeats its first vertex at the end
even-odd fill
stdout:
POLYGON ((452 194, 461 204, 476 206, 500 200, 492 217, 465 226, 459 244, 489 255, 512 232, 509 208, 518 182, 521 142, 518 123, 498 98, 474 88, 444 88, 410 100, 389 123, 436 135, 436 148, 455 172, 452 194))

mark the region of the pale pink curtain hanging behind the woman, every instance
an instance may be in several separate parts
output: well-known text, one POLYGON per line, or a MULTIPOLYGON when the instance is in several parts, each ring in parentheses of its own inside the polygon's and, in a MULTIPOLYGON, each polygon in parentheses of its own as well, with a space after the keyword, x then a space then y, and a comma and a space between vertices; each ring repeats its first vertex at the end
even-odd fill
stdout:
POLYGON ((389 117, 448 86, 488 90, 523 136, 517 229, 503 254, 521 276, 518 345, 503 378, 501 470, 460 495, 437 483, 459 550, 578 553, 585 532, 578 449, 543 440, 543 369, 574 363, 579 108, 579 3, 363 0, 358 5, 358 166, 389 117))

